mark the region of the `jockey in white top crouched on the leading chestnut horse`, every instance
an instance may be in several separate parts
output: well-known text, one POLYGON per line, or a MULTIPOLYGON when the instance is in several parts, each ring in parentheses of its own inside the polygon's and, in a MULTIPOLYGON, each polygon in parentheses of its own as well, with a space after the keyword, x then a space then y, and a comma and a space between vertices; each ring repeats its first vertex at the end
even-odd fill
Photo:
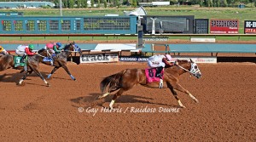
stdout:
POLYGON ((148 58, 148 66, 150 68, 154 68, 154 67, 171 67, 173 65, 178 65, 177 61, 175 61, 174 63, 169 63, 168 61, 172 60, 172 56, 170 54, 156 54, 154 56, 151 56, 148 58))

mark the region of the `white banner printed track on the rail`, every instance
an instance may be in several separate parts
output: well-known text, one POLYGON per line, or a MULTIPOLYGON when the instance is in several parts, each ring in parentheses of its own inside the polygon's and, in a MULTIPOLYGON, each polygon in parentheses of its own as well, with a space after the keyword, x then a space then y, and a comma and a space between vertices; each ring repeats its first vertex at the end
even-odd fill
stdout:
POLYGON ((82 54, 80 56, 80 63, 102 63, 117 61, 119 61, 118 54, 82 54))

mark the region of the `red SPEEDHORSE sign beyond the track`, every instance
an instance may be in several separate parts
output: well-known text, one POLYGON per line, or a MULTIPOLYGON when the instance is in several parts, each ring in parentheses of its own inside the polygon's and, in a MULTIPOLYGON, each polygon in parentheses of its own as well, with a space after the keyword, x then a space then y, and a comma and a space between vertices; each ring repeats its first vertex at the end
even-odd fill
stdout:
POLYGON ((234 34, 238 33, 238 20, 211 20, 210 33, 234 34))

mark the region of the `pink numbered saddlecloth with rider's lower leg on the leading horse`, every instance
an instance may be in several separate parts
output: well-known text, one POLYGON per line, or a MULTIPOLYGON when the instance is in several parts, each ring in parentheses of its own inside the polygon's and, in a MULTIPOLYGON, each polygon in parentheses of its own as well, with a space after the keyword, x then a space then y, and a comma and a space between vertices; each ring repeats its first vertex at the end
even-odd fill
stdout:
POLYGON ((164 68, 162 66, 145 69, 147 82, 160 82, 160 88, 163 85, 164 68))

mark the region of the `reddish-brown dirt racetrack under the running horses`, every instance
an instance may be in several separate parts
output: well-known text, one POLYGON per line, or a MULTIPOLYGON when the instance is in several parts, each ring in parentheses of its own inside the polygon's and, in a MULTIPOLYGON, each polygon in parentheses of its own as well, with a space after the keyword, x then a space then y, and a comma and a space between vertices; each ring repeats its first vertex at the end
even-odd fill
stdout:
MULTIPOLYGON (((200 79, 183 74, 181 85, 200 101, 178 93, 186 109, 178 109, 168 89, 137 86, 116 101, 118 112, 102 110, 113 95, 94 101, 102 77, 146 63, 67 66, 77 81, 60 69, 49 88, 35 74, 18 87, 23 74, 0 72, 0 141, 256 141, 253 63, 200 64, 200 79), (155 112, 131 111, 144 108, 155 112)), ((51 69, 40 66, 44 77, 51 69)))

